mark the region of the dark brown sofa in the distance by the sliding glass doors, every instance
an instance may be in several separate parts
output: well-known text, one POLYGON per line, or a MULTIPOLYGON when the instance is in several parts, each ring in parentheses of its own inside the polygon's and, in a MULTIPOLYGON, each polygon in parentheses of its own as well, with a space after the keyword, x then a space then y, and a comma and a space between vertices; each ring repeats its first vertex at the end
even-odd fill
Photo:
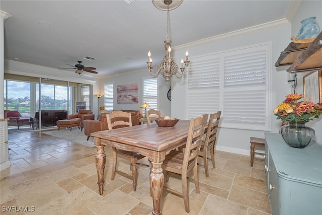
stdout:
MULTIPOLYGON (((66 119, 67 110, 41 110, 41 125, 42 126, 55 126, 57 120, 66 119)), ((39 112, 36 112, 35 118, 39 121, 39 112)))

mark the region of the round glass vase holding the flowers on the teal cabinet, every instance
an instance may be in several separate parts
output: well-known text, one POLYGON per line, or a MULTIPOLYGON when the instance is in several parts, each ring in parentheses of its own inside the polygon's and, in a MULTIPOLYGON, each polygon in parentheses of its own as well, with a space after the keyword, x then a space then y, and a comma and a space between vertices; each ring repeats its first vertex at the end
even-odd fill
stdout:
POLYGON ((282 137, 288 146, 302 149, 314 138, 314 129, 305 126, 305 123, 288 121, 288 125, 281 127, 282 137))

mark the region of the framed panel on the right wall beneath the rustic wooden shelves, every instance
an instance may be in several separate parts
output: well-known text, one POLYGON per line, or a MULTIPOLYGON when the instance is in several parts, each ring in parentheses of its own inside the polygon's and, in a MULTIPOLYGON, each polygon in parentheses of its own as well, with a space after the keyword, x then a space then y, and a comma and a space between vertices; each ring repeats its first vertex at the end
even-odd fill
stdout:
POLYGON ((322 70, 313 71, 303 77, 304 101, 322 103, 322 70))

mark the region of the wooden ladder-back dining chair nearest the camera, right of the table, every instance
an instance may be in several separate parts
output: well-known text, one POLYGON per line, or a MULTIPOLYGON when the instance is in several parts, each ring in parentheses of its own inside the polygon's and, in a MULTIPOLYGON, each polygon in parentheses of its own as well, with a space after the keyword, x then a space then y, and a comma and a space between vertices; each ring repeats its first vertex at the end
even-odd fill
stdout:
POLYGON ((172 150, 162 164, 162 169, 166 171, 166 181, 169 181, 170 172, 181 175, 182 193, 170 187, 164 186, 164 189, 176 195, 183 197, 186 212, 189 212, 189 192, 188 181, 195 182, 197 193, 200 192, 199 180, 197 174, 197 160, 202 139, 205 133, 205 127, 208 114, 203 114, 197 118, 190 120, 188 137, 186 141, 185 151, 172 150), (193 178, 188 177, 188 173, 193 170, 193 178))

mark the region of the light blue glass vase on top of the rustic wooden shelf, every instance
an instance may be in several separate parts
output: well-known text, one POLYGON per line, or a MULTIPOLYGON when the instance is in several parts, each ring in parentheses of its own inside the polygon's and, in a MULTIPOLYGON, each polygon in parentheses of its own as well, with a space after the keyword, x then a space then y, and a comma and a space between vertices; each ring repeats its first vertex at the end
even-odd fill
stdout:
POLYGON ((316 17, 309 17, 301 21, 302 26, 298 31, 298 39, 308 39, 316 37, 320 33, 320 27, 315 21, 316 17))

